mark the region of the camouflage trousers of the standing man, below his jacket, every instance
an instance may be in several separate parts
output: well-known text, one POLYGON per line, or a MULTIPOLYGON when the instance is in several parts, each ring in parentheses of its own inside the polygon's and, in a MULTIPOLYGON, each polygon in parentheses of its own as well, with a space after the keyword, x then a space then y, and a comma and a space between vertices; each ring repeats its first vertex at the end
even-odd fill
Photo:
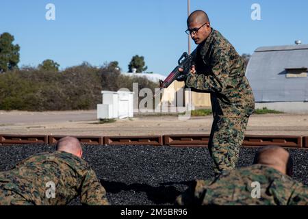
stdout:
POLYGON ((209 154, 213 159, 215 175, 219 175, 222 170, 235 168, 248 118, 249 116, 242 118, 214 116, 209 137, 209 154))

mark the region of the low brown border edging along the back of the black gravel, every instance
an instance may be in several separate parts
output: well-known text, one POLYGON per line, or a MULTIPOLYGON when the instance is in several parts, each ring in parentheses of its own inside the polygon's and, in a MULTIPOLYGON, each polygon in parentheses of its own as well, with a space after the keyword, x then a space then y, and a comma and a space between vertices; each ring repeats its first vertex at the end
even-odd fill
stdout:
MULTIPOLYGON (((55 144, 64 136, 0 134, 0 144, 55 144)), ((151 145, 151 146, 207 146, 209 135, 164 136, 74 136, 81 143, 97 145, 151 145)), ((308 136, 257 136, 246 135, 242 146, 278 145, 308 149, 308 136)))

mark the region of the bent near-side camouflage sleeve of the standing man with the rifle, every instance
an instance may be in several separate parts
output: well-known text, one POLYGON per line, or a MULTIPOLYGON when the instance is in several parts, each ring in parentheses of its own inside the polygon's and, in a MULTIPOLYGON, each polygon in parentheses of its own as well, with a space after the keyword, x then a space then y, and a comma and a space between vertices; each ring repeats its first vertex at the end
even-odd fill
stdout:
POLYGON ((214 51, 210 64, 213 73, 189 74, 186 79, 188 88, 218 93, 226 88, 229 77, 229 55, 223 48, 214 49, 214 51))

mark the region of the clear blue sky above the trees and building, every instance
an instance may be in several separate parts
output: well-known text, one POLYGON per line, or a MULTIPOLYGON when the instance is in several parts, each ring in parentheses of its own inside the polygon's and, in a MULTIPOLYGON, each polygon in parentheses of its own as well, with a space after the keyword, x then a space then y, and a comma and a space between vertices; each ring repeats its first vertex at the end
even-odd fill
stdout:
MULTIPOLYGON (((8 31, 21 46, 19 66, 116 60, 127 71, 131 57, 143 55, 148 71, 168 75, 188 49, 187 0, 0 0, 0 8, 0 34, 8 31), (55 21, 45 19, 47 3, 55 5, 55 21)), ((307 8, 307 0, 191 0, 191 11, 205 10, 240 54, 297 39, 307 44, 307 8), (261 21, 251 19, 253 3, 261 21)))

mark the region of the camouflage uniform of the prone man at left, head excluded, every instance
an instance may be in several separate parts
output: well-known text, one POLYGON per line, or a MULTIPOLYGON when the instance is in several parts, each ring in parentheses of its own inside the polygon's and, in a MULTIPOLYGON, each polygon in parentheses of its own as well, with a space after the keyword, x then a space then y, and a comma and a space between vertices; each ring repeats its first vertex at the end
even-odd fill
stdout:
POLYGON ((95 172, 71 153, 40 153, 0 172, 0 205, 66 205, 77 196, 84 205, 108 205, 95 172))

